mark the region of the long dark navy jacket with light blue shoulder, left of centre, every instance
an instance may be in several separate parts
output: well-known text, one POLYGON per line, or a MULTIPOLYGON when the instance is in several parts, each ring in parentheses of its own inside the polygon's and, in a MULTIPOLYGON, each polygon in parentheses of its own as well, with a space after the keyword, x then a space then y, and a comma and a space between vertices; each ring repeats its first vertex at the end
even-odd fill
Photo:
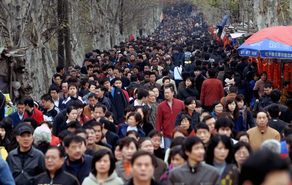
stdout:
POLYGON ((126 95, 121 88, 114 87, 112 92, 106 92, 105 96, 110 98, 116 123, 122 123, 124 121, 124 109, 129 105, 126 95))

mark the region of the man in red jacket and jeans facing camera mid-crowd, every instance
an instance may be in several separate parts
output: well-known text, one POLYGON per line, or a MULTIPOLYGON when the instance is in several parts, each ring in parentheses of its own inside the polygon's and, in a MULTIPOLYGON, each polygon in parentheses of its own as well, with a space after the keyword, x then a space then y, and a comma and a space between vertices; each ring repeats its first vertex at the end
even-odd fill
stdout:
POLYGON ((167 87, 164 90, 165 100, 158 105, 156 129, 163 132, 164 150, 170 147, 171 132, 177 115, 184 109, 183 101, 173 98, 174 90, 167 87))

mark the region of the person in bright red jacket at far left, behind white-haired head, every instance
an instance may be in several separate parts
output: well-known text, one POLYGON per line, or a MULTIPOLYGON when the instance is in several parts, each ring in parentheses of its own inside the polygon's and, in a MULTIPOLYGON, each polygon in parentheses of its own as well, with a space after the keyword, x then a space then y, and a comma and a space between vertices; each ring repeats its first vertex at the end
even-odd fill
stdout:
POLYGON ((32 117, 37 121, 37 126, 44 121, 44 116, 41 111, 34 108, 34 100, 31 97, 26 97, 23 99, 23 104, 25 107, 25 113, 23 118, 32 117))

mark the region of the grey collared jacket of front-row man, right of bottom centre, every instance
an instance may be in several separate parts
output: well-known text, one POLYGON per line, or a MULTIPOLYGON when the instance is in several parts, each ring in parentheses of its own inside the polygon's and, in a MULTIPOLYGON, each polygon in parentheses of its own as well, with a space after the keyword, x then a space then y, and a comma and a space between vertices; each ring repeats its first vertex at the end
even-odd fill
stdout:
POLYGON ((168 175, 167 185, 221 185, 218 170, 211 165, 185 163, 173 168, 168 175))

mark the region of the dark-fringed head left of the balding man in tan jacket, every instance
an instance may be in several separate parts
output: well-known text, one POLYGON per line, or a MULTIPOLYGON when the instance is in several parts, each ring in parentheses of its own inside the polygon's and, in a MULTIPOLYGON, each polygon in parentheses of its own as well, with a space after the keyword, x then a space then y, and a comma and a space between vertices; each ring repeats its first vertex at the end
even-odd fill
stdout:
POLYGON ((215 129, 217 130, 218 134, 226 135, 227 137, 230 137, 233 127, 233 121, 227 117, 220 117, 215 123, 215 129))

